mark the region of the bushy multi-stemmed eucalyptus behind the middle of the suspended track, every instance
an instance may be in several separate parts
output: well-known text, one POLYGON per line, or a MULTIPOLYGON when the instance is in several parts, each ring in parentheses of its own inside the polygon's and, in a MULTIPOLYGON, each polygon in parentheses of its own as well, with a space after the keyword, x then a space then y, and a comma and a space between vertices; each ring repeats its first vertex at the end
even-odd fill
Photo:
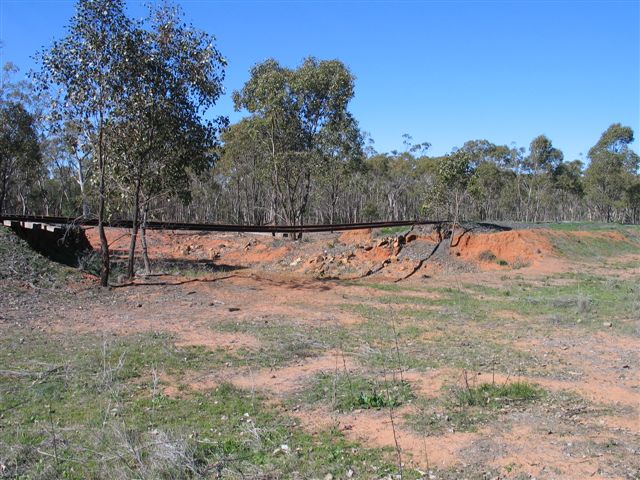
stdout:
POLYGON ((273 59, 260 63, 234 92, 236 110, 251 113, 266 135, 275 222, 302 223, 313 183, 331 164, 323 140, 347 125, 353 90, 342 62, 309 57, 296 69, 273 59))

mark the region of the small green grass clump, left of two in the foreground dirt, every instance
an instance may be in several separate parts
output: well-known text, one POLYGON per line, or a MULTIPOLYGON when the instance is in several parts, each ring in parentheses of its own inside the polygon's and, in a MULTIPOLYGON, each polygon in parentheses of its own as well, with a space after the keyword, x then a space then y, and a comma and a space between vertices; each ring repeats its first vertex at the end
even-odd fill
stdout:
POLYGON ((301 399, 308 403, 330 404, 334 410, 398 407, 414 398, 411 387, 402 381, 377 381, 351 373, 316 375, 301 399))

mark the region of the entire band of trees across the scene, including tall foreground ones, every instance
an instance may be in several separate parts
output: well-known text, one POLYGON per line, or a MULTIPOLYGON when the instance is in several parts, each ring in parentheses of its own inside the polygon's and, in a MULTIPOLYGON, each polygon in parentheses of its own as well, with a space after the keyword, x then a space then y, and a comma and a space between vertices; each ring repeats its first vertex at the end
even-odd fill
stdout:
MULTIPOLYGON (((354 77, 338 60, 256 65, 233 93, 247 116, 211 115, 226 60, 213 36, 166 2, 132 20, 122 0, 80 0, 38 72, 0 85, 0 211, 251 224, 438 218, 640 222, 631 128, 613 124, 565 159, 471 140, 444 156, 404 136, 378 153, 348 109, 354 77)), ((103 283, 109 251, 102 237, 103 283)), ((143 243, 144 246, 144 243, 143 243)))

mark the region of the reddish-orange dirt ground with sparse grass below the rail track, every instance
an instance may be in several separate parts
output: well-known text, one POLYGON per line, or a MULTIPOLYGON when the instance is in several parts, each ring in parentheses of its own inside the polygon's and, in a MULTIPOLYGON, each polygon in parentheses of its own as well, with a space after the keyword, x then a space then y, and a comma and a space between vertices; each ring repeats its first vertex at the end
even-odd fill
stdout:
MULTIPOLYGON (((108 232, 118 254, 128 246, 126 233, 108 232)), ((88 236, 96 243, 94 231, 88 236)), ((459 233, 450 249, 449 239, 439 243, 428 229, 299 242, 150 232, 156 275, 133 284, 118 278, 122 285, 108 291, 81 282, 55 308, 43 297, 32 318, 9 308, 4 322, 65 333, 166 332, 178 346, 228 352, 224 368, 161 375, 163 391, 179 397, 224 382, 258 391, 309 432, 333 426, 366 446, 396 449, 397 442, 403 462, 425 478, 640 478, 640 303, 633 287, 640 250, 575 259, 554 240, 585 238, 629 242, 617 232, 542 229, 459 233), (587 290, 589 275, 632 290, 600 297, 598 286, 587 290), (400 332, 395 338, 375 338, 391 326, 400 332), (294 341, 309 351, 288 356, 294 341), (398 374, 414 400, 391 411, 337 411, 304 400, 320 373, 391 375, 393 367, 382 372, 373 360, 372 352, 387 347, 391 356, 406 355, 398 374), (261 360, 233 360, 242 358, 261 360), (546 396, 485 412, 474 428, 448 420, 426 433, 412 426, 424 409, 433 418, 452 415, 438 403, 448 388, 514 381, 546 396)))

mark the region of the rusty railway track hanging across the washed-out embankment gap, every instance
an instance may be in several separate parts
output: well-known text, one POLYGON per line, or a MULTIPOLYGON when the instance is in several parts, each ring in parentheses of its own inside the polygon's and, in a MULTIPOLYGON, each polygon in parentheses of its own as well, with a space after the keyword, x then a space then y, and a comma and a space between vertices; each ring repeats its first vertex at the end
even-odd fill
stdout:
MULTIPOLYGON (((22 226, 33 228, 34 225, 47 226, 79 226, 95 227, 97 219, 73 218, 73 217, 49 217, 39 215, 2 215, 0 221, 5 226, 22 226)), ((401 220, 393 222, 367 222, 367 223, 340 223, 332 225, 233 225, 220 223, 179 223, 179 222, 147 222, 149 230, 191 230, 201 232, 237 232, 237 233, 271 233, 273 235, 313 233, 313 232, 339 232, 345 230, 360 230, 364 228, 385 227, 410 227, 412 225, 439 225, 445 223, 438 220, 401 220)), ((105 222, 107 227, 132 228, 132 220, 114 220, 105 222)), ((40 227, 36 227, 40 228, 40 227)))

